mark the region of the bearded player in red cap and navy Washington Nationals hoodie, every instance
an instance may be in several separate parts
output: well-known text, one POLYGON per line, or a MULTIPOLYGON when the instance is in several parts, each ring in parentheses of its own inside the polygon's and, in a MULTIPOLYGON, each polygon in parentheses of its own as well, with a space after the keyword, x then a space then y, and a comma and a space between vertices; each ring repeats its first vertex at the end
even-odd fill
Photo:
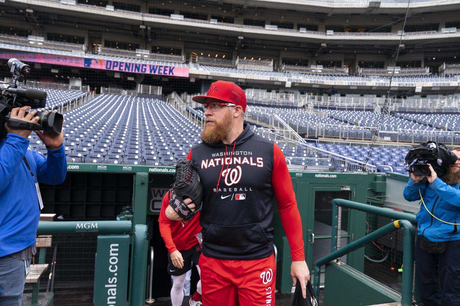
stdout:
MULTIPOLYGON (((192 147, 203 186, 200 223, 204 306, 274 306, 273 195, 291 247, 293 285, 299 279, 305 297, 310 272, 305 262, 302 224, 292 181, 281 149, 243 124, 246 95, 234 83, 217 81, 206 96, 202 143, 192 147)), ((184 200, 189 208, 195 203, 184 200)), ((171 206, 166 214, 181 217, 171 206)))

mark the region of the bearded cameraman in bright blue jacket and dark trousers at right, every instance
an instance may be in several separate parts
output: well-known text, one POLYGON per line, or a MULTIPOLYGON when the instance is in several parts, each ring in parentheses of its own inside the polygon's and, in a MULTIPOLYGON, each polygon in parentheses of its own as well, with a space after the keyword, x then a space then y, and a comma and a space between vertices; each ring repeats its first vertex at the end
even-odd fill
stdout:
POLYGON ((460 147, 443 178, 414 175, 404 188, 404 199, 420 200, 415 243, 415 275, 426 306, 460 305, 460 147), (420 190, 420 191, 419 191, 420 190), (425 208, 426 206, 426 208, 425 208), (440 221, 440 220, 442 221, 440 221))

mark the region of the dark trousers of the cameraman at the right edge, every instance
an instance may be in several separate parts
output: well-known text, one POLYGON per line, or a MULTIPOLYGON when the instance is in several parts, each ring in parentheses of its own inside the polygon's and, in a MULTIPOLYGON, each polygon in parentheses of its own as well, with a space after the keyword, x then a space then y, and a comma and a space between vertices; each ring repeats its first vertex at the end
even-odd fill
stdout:
POLYGON ((431 254, 415 242, 415 277, 421 301, 426 306, 460 305, 460 240, 454 240, 442 254, 431 254))

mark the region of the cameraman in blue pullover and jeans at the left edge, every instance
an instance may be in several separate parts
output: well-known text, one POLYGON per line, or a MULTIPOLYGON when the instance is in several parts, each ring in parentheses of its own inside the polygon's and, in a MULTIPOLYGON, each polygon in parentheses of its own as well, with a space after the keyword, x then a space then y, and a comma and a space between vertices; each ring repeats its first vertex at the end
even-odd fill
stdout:
MULTIPOLYGON (((36 111, 24 117, 29 109, 14 108, 10 117, 37 123, 36 111)), ((31 132, 0 125, 0 306, 21 305, 43 207, 38 182, 61 184, 67 172, 63 133, 35 132, 46 145, 45 157, 30 148, 31 132)))

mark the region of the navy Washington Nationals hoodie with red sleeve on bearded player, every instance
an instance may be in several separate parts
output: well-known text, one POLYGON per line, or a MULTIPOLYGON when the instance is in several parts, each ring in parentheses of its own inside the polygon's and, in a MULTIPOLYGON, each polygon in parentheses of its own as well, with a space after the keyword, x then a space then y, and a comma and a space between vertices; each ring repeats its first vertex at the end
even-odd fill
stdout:
POLYGON ((285 230, 292 229, 286 234, 293 260, 303 260, 302 227, 291 178, 284 156, 273 141, 255 135, 246 124, 232 144, 201 143, 192 148, 188 158, 203 185, 200 224, 205 256, 250 260, 273 254, 272 183, 276 183, 272 174, 279 169, 282 182, 277 184, 280 191, 276 200, 282 206, 285 230), (274 156, 281 156, 276 167, 274 156))

